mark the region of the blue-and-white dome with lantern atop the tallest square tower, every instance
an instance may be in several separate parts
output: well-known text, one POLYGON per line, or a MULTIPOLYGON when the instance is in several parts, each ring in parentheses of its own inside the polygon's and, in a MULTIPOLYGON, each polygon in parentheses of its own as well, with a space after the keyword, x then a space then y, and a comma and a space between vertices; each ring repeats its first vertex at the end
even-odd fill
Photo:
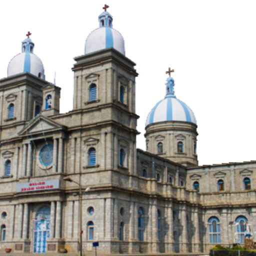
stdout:
POLYGON ((84 54, 113 47, 123 55, 124 40, 122 35, 112 28, 112 16, 104 11, 98 16, 99 28, 92 31, 85 42, 84 54))

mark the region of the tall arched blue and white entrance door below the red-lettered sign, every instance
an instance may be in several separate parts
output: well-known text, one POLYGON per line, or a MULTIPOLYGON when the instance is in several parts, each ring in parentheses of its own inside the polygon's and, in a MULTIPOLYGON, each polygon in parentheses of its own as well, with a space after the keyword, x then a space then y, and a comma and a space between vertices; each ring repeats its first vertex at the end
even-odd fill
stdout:
POLYGON ((41 207, 35 216, 33 252, 46 252, 47 239, 50 236, 50 207, 41 207))

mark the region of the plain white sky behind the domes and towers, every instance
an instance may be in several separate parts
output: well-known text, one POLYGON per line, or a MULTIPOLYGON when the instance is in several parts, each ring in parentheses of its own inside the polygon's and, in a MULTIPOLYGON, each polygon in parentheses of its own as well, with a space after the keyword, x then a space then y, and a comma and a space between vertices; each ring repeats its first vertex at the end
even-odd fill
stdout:
POLYGON ((0 77, 30 31, 46 80, 56 72, 62 88, 60 112, 70 111, 73 57, 105 3, 139 73, 137 147, 145 149, 145 120, 171 67, 176 96, 197 119, 199 164, 256 160, 255 0, 1 0, 0 77))

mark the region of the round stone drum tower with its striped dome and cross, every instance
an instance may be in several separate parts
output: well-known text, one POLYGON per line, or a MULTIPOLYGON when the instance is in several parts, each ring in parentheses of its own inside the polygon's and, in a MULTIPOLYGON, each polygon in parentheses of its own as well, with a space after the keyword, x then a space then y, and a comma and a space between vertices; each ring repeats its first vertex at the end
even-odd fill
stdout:
POLYGON ((197 125, 192 110, 174 93, 174 79, 166 79, 166 94, 146 119, 146 150, 187 166, 198 164, 197 125))

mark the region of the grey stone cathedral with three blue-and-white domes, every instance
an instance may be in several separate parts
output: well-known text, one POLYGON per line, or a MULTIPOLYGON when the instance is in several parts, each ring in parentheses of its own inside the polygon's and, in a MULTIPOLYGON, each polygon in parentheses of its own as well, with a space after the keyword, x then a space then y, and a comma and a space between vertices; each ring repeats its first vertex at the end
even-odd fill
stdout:
MULTIPOLYGON (((207 253, 254 235, 256 162, 198 166, 174 80, 136 149, 135 63, 106 7, 75 57, 73 108, 28 32, 0 79, 0 251, 207 253)), ((162 86, 164 89, 164 84, 162 86)))

